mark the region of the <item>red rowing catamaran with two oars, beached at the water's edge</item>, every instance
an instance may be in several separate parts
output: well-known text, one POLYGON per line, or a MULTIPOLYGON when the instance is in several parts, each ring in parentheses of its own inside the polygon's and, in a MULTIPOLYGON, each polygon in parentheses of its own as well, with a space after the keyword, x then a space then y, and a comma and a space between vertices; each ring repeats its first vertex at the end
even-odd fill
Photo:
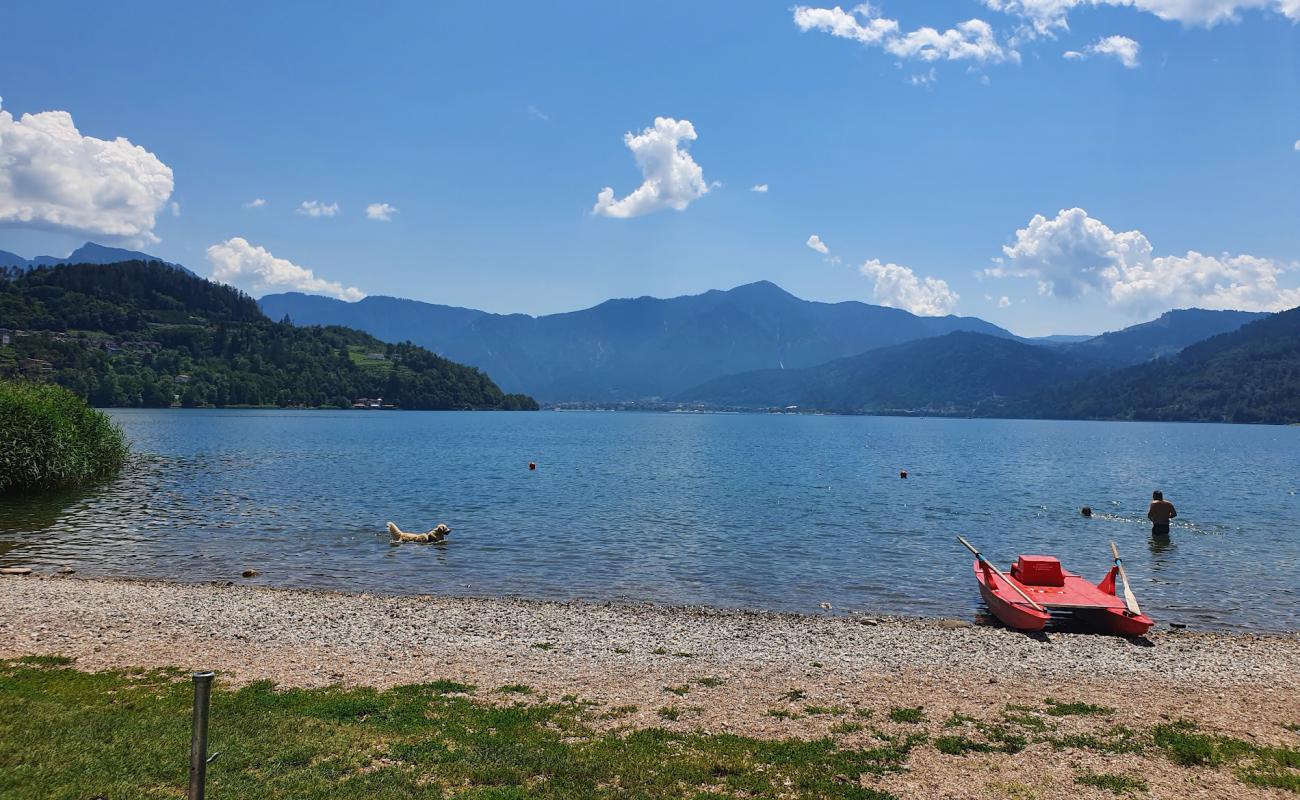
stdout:
POLYGON ((1110 549, 1115 563, 1100 583, 1092 584, 1062 568, 1061 562, 1050 555, 1020 555, 1008 575, 968 541, 958 539, 975 554, 975 580, 984 602, 1008 627, 1041 631, 1053 611, 1074 613, 1119 636, 1141 636, 1156 624, 1138 606, 1113 542, 1110 549), (1123 597, 1115 593, 1117 576, 1123 584, 1123 597))

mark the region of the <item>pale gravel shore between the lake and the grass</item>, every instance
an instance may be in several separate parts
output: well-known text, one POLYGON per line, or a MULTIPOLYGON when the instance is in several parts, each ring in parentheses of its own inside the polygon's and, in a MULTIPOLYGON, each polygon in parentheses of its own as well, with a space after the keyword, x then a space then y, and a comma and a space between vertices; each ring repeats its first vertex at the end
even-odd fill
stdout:
MULTIPOLYGON (((534 697, 577 695, 594 708, 637 706, 619 725, 753 736, 827 735, 836 717, 806 706, 862 709, 876 719, 892 708, 923 706, 927 719, 941 721, 1041 706, 1046 697, 1109 706, 1112 725, 1190 719, 1261 744, 1295 747, 1286 726, 1300 722, 1296 635, 1031 637, 959 620, 0 578, 0 658, 26 654, 70 656, 87 670, 213 669, 231 683, 389 687, 448 679, 484 693, 526 684, 534 697), (668 706, 681 710, 677 719, 658 713, 668 706)), ((1002 771, 1014 774, 1028 752, 984 757, 988 779, 972 793, 949 783, 927 788, 924 777, 945 774, 937 752, 930 757, 940 762, 890 778, 888 788, 904 796, 991 796, 979 787, 996 784, 1002 771)), ((1074 764, 1087 766, 1093 757, 1100 756, 1078 754, 1074 764)), ((1141 761, 1108 756, 1105 764, 1124 758, 1141 761)), ((963 769, 976 762, 983 764, 965 760, 963 769)), ((1138 762, 1132 769, 1154 769, 1138 762)), ((1174 792, 1153 788, 1157 796, 1254 791, 1227 774, 1232 792, 1218 795, 1228 784, 1218 787, 1210 775, 1222 773, 1184 786, 1178 773, 1186 770, 1170 769, 1148 773, 1153 787, 1174 792)))

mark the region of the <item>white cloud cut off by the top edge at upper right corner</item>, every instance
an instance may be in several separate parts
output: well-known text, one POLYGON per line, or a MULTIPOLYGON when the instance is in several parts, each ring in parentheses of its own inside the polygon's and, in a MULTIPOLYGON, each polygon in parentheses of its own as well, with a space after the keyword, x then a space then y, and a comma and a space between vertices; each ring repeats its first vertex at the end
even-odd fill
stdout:
POLYGON ((984 5, 1020 17, 1028 30, 1039 35, 1069 30, 1072 9, 1098 5, 1128 7, 1161 20, 1206 27, 1239 20, 1244 10, 1275 12, 1292 21, 1300 20, 1296 0, 984 0, 984 5))

